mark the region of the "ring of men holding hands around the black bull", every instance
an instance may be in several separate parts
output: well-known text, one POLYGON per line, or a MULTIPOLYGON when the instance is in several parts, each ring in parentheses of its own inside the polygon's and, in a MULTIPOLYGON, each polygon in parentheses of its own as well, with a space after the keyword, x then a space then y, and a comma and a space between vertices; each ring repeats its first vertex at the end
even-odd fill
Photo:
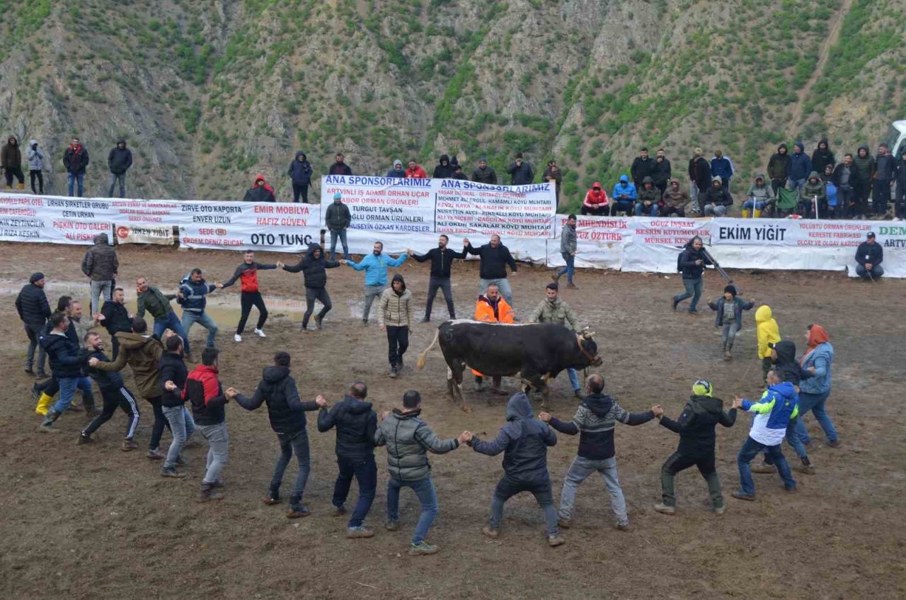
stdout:
MULTIPOLYGON (((334 205, 341 198, 334 198, 334 205)), ((342 204, 342 203, 341 203, 342 204)), ((334 206, 332 205, 332 206, 334 206)), ((328 218, 330 225, 330 218, 328 218)), ((586 394, 582 394, 578 373, 568 369, 567 373, 575 395, 581 403, 569 421, 561 421, 548 411, 536 417, 525 392, 517 392, 506 402, 506 423, 494 439, 482 440, 477 435, 463 431, 457 437, 441 439, 423 419, 422 399, 419 392, 410 390, 402 397, 401 406, 384 412, 379 418, 368 402, 368 386, 365 382, 353 382, 342 401, 331 404, 323 395, 313 401, 304 401, 291 373, 292 358, 289 353, 277 352, 273 364, 266 367, 262 379, 254 390, 240 392, 234 387, 225 387, 219 380, 218 356, 215 346, 217 324, 206 313, 207 295, 218 289, 240 284, 241 316, 236 326, 234 340, 242 342, 246 321, 255 307, 258 318, 254 333, 266 337, 264 327, 267 308, 259 289, 258 272, 283 268, 291 273, 301 272, 304 277, 306 311, 301 329, 309 331, 315 301, 322 309, 314 315, 314 328, 321 329, 323 320, 332 308, 327 293, 326 269, 341 265, 364 271, 364 308, 362 323, 368 324, 371 306, 378 299, 378 324, 386 332, 388 340, 388 362, 390 377, 403 372, 403 355, 409 347, 409 334, 413 325, 414 303, 406 282, 399 274, 388 282, 388 269, 402 265, 410 256, 419 262, 430 262, 429 294, 425 314, 421 323, 431 317, 432 305, 438 291, 444 295, 448 314, 456 319, 450 285, 450 267, 456 259, 467 255, 479 256, 479 286, 474 318, 491 324, 513 324, 517 318, 513 309, 512 289, 508 276, 516 273, 516 260, 501 243, 500 237, 492 236, 488 244, 473 247, 464 240, 461 252, 448 247, 448 237, 439 237, 438 247, 431 248, 424 255, 408 250, 397 257, 385 255, 381 242, 375 242, 372 253, 354 261, 348 255, 345 238, 342 237, 344 257, 334 260, 336 239, 332 230, 331 256, 325 256, 318 244, 309 246, 308 251, 292 266, 282 262, 263 264, 255 261, 255 254, 246 251, 243 262, 223 284, 209 284, 201 269, 195 268, 180 282, 178 292, 168 295, 150 285, 147 277, 138 277, 136 291, 138 309, 130 315, 125 306, 123 289, 116 286, 119 261, 113 247, 109 246, 106 235, 95 238, 95 245, 88 251, 82 263, 82 271, 91 279, 91 317, 84 317, 82 305, 69 296, 59 299, 57 310, 51 311, 43 287, 42 273, 31 276, 27 285, 16 299, 17 312, 24 322, 29 338, 25 372, 36 375, 40 382, 33 387, 38 401, 35 411, 41 415, 40 431, 56 432, 55 422, 67 411, 84 410, 91 419, 81 432, 78 443, 90 444, 92 435, 117 408, 128 415, 126 431, 121 450, 138 448, 134 440, 140 420, 140 409, 136 394, 128 389, 121 375, 126 365, 130 366, 138 395, 151 405, 154 423, 149 440, 148 457, 162 461, 160 473, 163 477, 182 479, 185 461, 182 450, 191 436, 198 434, 207 440, 208 451, 206 470, 198 490, 198 501, 204 502, 223 497, 220 489, 225 487, 223 471, 226 466, 229 434, 226 428, 226 404, 236 402, 247 411, 255 411, 266 405, 271 427, 275 431, 280 453, 274 474, 267 487, 264 502, 268 505, 281 503, 281 484, 285 469, 293 456, 297 461, 297 474, 290 491, 287 518, 304 518, 310 509, 304 504, 304 490, 311 470, 306 412, 318 411, 318 431, 336 430, 336 456, 339 473, 334 485, 331 504, 333 515, 348 518, 346 536, 350 538, 373 537, 373 529, 366 527, 377 487, 377 464, 374 459, 375 447, 387 450, 387 465, 390 478, 387 482, 387 511, 384 526, 389 531, 400 528, 400 489, 410 488, 419 498, 421 514, 411 537, 411 555, 429 555, 438 552, 426 538, 432 521, 438 514, 438 498, 431 479, 428 454, 444 454, 467 445, 472 450, 496 456, 503 453, 504 474, 492 495, 490 517, 483 533, 496 538, 501 535, 502 518, 506 500, 518 493, 531 492, 542 508, 545 518, 547 542, 551 547, 564 544, 561 530, 571 526, 576 489, 590 475, 599 473, 612 502, 614 526, 621 530, 630 528, 626 502, 617 473, 616 450, 613 431, 619 421, 622 424, 638 426, 658 419, 666 429, 679 434, 679 446, 661 468, 662 498, 654 510, 665 515, 674 515, 677 501, 674 479, 679 471, 695 466, 699 469, 708 486, 708 508, 715 514, 725 511, 725 500, 721 491, 716 469, 715 445, 716 426, 731 427, 737 420, 737 411, 754 415, 748 438, 738 452, 737 465, 740 486, 732 493, 734 498, 753 501, 756 489, 753 472, 776 472, 783 481, 787 492, 795 492, 796 483, 787 463, 781 443, 787 443, 795 450, 801 461, 797 469, 814 473, 806 446, 810 440, 802 416, 812 411, 827 435, 829 446, 840 446, 833 421, 825 411, 825 402, 830 394, 831 363, 834 349, 827 332, 818 324, 809 325, 805 331, 806 352, 795 356, 795 344, 782 340, 771 309, 762 305, 756 312, 758 358, 762 361, 765 377, 765 391, 756 400, 735 397, 725 405, 715 396, 710 382, 700 380, 691 387, 689 402, 676 419, 666 415, 660 405, 648 411, 631 412, 623 409, 605 392, 602 375, 593 373, 585 380, 586 394), (506 266, 510 267, 507 273, 506 266), (170 302, 177 300, 182 306, 178 318, 170 302), (149 328, 145 313, 154 317, 149 328), (186 359, 191 359, 188 332, 192 324, 207 329, 207 340, 200 353, 200 363, 189 371, 186 359), (111 355, 105 352, 106 343, 92 327, 102 325, 111 334, 111 355), (37 361, 34 354, 37 352, 37 361), (49 359, 52 377, 44 371, 45 355, 49 359), (94 401, 92 380, 101 393, 101 408, 94 401), (75 401, 75 391, 82 392, 82 407, 75 401), (53 397, 58 400, 53 402, 53 397), (171 431, 169 448, 161 446, 165 429, 171 431), (576 457, 564 477, 559 509, 554 508, 554 491, 547 469, 547 449, 557 442, 557 433, 579 435, 576 457), (759 454, 764 460, 756 467, 750 467, 759 454), (346 508, 352 479, 358 483, 359 497, 351 510, 346 508)), ((578 323, 573 309, 559 297, 559 279, 566 275, 568 285, 573 284, 573 259, 575 256, 575 217, 570 216, 564 225, 562 253, 566 266, 558 269, 554 281, 546 286, 545 299, 531 314, 532 323, 553 322, 576 331, 578 323)), ((873 241, 873 237, 872 237, 873 241)), ((699 240, 700 242, 700 240, 699 240)), ((681 300, 694 296, 690 312, 695 312, 695 303, 701 294, 701 271, 708 260, 699 256, 700 243, 689 242, 680 257, 684 284, 687 275, 699 279, 698 284, 686 285, 687 294, 676 296, 673 307, 681 300), (689 271, 689 273, 687 273, 689 271)), ((876 259, 875 259, 876 260, 876 259)), ((880 262, 880 261, 877 261, 880 262)), ((754 301, 737 298, 734 285, 728 285, 724 294, 709 306, 716 311, 716 325, 723 328, 724 360, 730 360, 733 338, 742 322, 742 313, 753 307, 754 301)), ((476 389, 482 389, 483 375, 474 372, 476 389)), ((500 378, 494 377, 491 390, 501 390, 500 378)))

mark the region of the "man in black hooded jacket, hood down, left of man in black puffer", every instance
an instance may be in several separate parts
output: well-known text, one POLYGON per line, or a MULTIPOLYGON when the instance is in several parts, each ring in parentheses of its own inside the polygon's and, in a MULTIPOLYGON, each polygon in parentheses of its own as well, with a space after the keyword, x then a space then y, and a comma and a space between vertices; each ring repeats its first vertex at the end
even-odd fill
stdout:
POLYGON ((236 402, 246 411, 254 411, 262 402, 267 402, 267 418, 271 421, 271 429, 277 434, 280 456, 277 457, 274 477, 271 478, 265 504, 280 503, 280 484, 283 482, 286 466, 295 454, 295 460, 299 463, 299 473, 295 478, 293 493, 289 497, 289 512, 286 513, 286 518, 300 518, 311 514, 308 507, 302 503, 305 482, 308 481, 308 473, 312 469, 308 432, 305 431, 305 411, 317 411, 327 406, 327 401, 323 396, 318 396, 314 402, 302 402, 295 380, 289 374, 289 364, 289 353, 276 353, 274 366, 265 367, 255 394, 248 398, 236 393, 236 402))

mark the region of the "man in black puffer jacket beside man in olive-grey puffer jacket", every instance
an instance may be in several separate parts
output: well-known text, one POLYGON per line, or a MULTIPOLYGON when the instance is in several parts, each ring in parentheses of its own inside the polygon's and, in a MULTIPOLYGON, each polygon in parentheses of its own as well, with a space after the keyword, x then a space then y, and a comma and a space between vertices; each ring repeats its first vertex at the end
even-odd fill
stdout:
POLYGON ((318 413, 318 431, 337 428, 336 454, 340 474, 333 486, 333 514, 346 514, 343 504, 349 496, 352 478, 359 482, 359 500, 352 510, 346 537, 372 537, 374 531, 363 525, 374 492, 378 487, 378 465, 374 462, 374 433, 378 429, 378 415, 365 402, 368 386, 363 382, 352 384, 349 393, 333 405, 330 411, 321 407, 318 413))

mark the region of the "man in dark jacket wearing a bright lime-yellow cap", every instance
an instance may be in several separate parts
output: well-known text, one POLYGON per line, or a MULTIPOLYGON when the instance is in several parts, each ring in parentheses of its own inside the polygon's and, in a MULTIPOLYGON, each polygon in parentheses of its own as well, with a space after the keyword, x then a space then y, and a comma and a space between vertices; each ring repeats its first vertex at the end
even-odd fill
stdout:
POLYGON ((654 505, 656 511, 664 515, 676 514, 677 498, 673 491, 673 479, 679 471, 694 465, 708 482, 711 510, 718 515, 724 514, 724 496, 720 493, 720 477, 714 456, 714 446, 717 443, 714 428, 718 423, 724 427, 732 427, 736 422, 736 416, 736 409, 724 411, 724 402, 714 397, 714 389, 710 382, 704 380, 692 385, 692 396, 679 419, 673 421, 670 417, 664 416, 663 411, 660 412, 658 415, 660 424, 674 433, 679 433, 679 447, 660 468, 663 502, 654 505))

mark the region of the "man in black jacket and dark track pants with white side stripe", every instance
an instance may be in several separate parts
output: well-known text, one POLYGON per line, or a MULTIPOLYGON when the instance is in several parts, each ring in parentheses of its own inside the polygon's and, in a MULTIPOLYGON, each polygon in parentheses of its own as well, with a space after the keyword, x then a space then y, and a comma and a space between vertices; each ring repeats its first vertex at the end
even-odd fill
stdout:
MULTIPOLYGON (((170 339, 178 340, 179 338, 178 336, 173 336, 170 339)), ((86 347, 79 351, 79 360, 82 362, 82 369, 84 369, 94 382, 98 384, 104 408, 101 411, 101 414, 95 417, 94 420, 88 424, 88 427, 82 430, 82 435, 79 436, 79 443, 92 443, 94 441, 92 439, 92 433, 97 431, 101 425, 110 421, 113 413, 116 412, 117 407, 119 407, 126 413, 126 416, 129 417, 129 422, 126 423, 126 437, 122 441, 120 450, 124 452, 135 450, 139 446, 132 440, 132 437, 135 435, 135 430, 139 426, 140 418, 139 405, 135 402, 135 395, 130 392, 122 382, 122 375, 119 372, 92 369, 92 367, 88 365, 88 361, 91 358, 96 358, 105 363, 111 361, 111 359, 107 358, 107 355, 104 354, 104 342, 101 339, 101 335, 97 332, 90 331, 85 334, 84 342, 86 347)))

